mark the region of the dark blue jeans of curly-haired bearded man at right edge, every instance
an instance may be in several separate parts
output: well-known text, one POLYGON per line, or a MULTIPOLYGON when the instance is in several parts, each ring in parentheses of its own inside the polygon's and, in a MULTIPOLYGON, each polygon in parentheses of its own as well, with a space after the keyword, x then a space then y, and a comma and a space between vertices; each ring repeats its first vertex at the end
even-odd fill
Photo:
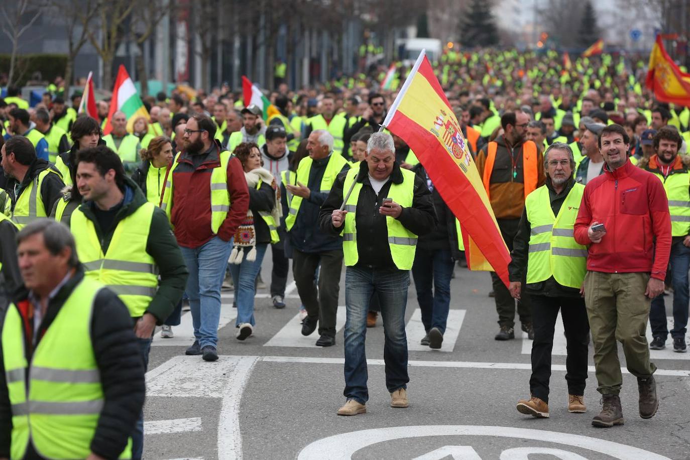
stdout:
MULTIPOLYGON (((673 329, 671 337, 684 338, 688 323, 689 284, 688 269, 690 268, 690 248, 686 248, 682 241, 671 246, 671 286, 673 286, 673 329)), ((649 325, 653 337, 661 337, 664 341, 669 336, 666 324, 666 306, 664 294, 651 301, 649 310, 649 325)))

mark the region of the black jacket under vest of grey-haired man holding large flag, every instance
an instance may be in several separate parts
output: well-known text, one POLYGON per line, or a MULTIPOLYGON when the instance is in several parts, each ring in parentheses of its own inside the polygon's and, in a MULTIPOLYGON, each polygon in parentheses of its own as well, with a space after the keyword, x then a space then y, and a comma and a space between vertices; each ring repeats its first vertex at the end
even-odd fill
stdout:
MULTIPOLYGON (((394 163, 391 180, 389 180, 380 190, 379 194, 374 192, 368 176, 368 163, 362 161, 359 164, 359 174, 357 182, 362 183, 362 190, 359 191, 357 198, 357 253, 359 254, 358 266, 366 266, 382 270, 397 270, 391 248, 388 246, 388 227, 386 226, 386 216, 380 214, 379 208, 383 205, 383 200, 388 196, 391 183, 400 184, 403 181, 400 165, 394 163)), ((341 234, 343 228, 335 228, 331 222, 333 210, 339 209, 343 203, 343 187, 347 172, 338 174, 328 199, 321 207, 319 214, 319 226, 322 232, 331 235, 341 234)), ((415 176, 414 195, 411 208, 402 208, 400 223, 409 231, 417 236, 422 236, 431 232, 437 222, 436 212, 433 207, 431 192, 426 187, 426 183, 415 176)))

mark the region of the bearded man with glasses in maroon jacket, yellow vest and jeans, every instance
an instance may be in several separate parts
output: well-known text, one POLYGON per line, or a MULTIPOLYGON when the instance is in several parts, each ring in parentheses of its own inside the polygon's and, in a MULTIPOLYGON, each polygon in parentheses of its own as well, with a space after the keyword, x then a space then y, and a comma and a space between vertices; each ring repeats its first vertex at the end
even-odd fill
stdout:
POLYGON ((189 270, 195 341, 186 354, 201 354, 205 361, 218 359, 221 284, 230 240, 249 207, 242 164, 221 148, 215 132, 210 117, 190 117, 184 150, 172 161, 161 201, 189 270))

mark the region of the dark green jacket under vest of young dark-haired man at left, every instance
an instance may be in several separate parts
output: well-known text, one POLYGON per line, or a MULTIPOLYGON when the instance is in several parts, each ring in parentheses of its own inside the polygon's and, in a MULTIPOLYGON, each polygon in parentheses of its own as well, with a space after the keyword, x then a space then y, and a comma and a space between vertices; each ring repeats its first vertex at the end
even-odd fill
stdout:
MULTIPOLYGON (((93 212, 95 203, 93 201, 81 203, 79 210, 84 213, 86 219, 93 222, 98 239, 101 241, 103 254, 108 252, 108 246, 110 246, 112 235, 115 233, 119 221, 133 214, 144 203, 147 203, 144 193, 139 190, 132 179, 125 177, 124 199, 108 232, 101 229, 93 212)), ((146 241, 146 252, 156 261, 160 270, 158 290, 146 308, 146 312, 155 316, 157 324, 161 325, 170 316, 172 310, 175 310, 177 302, 182 299, 188 270, 182 257, 182 251, 177 245, 172 230, 170 230, 168 217, 160 208, 156 208, 153 212, 148 241, 146 241)))

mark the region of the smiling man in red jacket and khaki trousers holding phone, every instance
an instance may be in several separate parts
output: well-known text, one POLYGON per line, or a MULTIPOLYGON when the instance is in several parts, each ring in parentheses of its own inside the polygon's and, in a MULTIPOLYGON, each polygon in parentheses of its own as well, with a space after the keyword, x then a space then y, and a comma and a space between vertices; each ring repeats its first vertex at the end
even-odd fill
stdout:
POLYGON ((584 296, 594 343, 602 412, 592 425, 623 424, 622 374, 616 339, 638 378, 640 417, 658 409, 645 330, 651 299, 664 290, 671 251, 669 203, 661 181, 628 160, 629 137, 620 125, 599 134, 604 174, 587 183, 575 221, 575 241, 589 246, 584 296), (600 228, 603 224, 603 228, 600 228))

